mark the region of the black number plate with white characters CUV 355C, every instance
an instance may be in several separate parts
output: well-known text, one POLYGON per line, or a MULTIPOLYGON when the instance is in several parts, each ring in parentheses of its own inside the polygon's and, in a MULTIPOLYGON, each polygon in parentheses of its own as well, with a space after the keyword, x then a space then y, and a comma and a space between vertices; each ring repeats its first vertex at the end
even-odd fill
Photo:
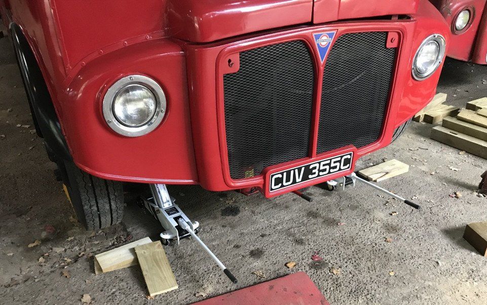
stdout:
POLYGON ((348 171, 352 168, 353 152, 334 156, 324 160, 314 161, 305 165, 296 166, 277 173, 269 177, 269 192, 291 187, 310 180, 329 176, 340 172, 348 171))

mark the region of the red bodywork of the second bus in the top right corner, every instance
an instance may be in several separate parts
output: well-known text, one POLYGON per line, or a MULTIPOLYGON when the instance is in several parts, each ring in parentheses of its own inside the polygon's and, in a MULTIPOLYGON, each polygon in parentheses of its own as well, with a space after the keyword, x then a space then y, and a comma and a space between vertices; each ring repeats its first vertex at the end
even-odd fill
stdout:
POLYGON ((487 56, 487 12, 485 0, 430 0, 440 11, 452 32, 447 56, 464 61, 486 64, 487 56), (454 29, 458 14, 466 8, 473 12, 471 24, 465 31, 454 29))

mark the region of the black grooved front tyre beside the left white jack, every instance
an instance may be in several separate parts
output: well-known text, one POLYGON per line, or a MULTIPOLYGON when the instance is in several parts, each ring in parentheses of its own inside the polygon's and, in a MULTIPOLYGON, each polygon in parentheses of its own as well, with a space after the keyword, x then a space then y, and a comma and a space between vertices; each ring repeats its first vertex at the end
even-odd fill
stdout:
POLYGON ((79 220, 87 230, 99 230, 122 221, 124 200, 121 182, 92 176, 72 163, 66 164, 66 170, 70 178, 72 204, 82 206, 84 215, 78 215, 78 218, 85 216, 79 220))

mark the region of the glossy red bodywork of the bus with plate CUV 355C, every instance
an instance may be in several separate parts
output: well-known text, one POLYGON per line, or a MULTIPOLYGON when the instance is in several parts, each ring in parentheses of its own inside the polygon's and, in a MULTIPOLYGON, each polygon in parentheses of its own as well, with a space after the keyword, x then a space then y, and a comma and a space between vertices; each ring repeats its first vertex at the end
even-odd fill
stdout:
MULTIPOLYGON (((268 194, 265 177, 271 172, 351 150, 355 163, 387 146, 394 129, 424 107, 436 91, 440 69, 424 81, 411 77, 413 57, 425 37, 439 33, 448 43, 447 24, 427 0, 328 3, 329 8, 323 0, 146 0, 143 6, 117 0, 10 0, 11 10, 0 7, 6 23, 12 21, 22 28, 38 59, 69 150, 80 168, 121 181, 199 183, 209 190, 256 187, 271 197, 292 190, 268 194), (384 17, 405 14, 409 18, 384 17), (381 138, 358 150, 348 146, 313 154, 269 167, 259 176, 232 180, 222 112, 222 75, 229 72, 226 62, 231 58, 235 62, 231 69, 238 69, 238 52, 302 40, 316 59, 316 75, 321 75, 323 65, 312 33, 325 30, 336 30, 337 37, 387 31, 390 39, 395 38, 390 44, 397 45, 397 61, 381 138), (167 96, 161 126, 133 138, 112 131, 101 109, 108 87, 130 74, 154 79, 167 96)), ((321 82, 320 78, 315 81, 321 82)), ((320 87, 315 86, 315 96, 320 96, 320 87)), ((313 122, 316 138, 317 117, 313 122)), ((316 139, 312 145, 316 146, 316 139)))

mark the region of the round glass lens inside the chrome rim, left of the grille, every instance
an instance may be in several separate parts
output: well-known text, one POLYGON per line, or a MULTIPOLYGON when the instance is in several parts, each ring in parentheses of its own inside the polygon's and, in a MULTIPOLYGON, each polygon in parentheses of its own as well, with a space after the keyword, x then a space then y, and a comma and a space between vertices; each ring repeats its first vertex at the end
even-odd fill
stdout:
POLYGON ((156 96, 142 85, 129 85, 115 95, 113 111, 117 121, 128 127, 140 127, 154 117, 156 96))

